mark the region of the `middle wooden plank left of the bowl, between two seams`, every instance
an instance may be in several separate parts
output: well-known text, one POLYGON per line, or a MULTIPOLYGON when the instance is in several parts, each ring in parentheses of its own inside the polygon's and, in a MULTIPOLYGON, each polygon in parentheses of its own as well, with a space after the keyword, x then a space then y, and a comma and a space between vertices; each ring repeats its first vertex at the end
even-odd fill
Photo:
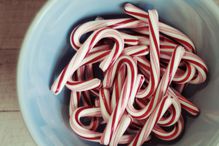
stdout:
POLYGON ((16 64, 19 49, 0 50, 0 111, 19 110, 16 94, 16 64))

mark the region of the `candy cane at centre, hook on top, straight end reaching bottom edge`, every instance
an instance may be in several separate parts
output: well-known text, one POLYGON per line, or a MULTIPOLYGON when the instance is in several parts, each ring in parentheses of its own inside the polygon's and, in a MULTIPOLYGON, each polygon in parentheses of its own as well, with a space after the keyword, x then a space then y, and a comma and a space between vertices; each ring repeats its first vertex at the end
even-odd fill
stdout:
MULTIPOLYGON (((135 64, 135 61, 129 57, 129 56, 121 56, 115 63, 115 65, 112 67, 112 72, 117 71, 121 65, 126 65, 127 67, 127 75, 125 82, 122 87, 121 95, 119 97, 118 104, 116 105, 115 109, 113 110, 108 123, 106 125, 106 128, 104 130, 104 133, 101 137, 101 143, 108 145, 112 135, 115 133, 115 130, 118 126, 119 121, 121 120, 121 116, 125 112, 126 106, 128 104, 128 100, 132 94, 134 83, 137 79, 137 65, 135 64)), ((110 76, 110 80, 114 80, 115 73, 110 76)), ((111 85, 112 86, 112 85, 111 85)), ((103 88, 104 88, 103 84, 103 88)))

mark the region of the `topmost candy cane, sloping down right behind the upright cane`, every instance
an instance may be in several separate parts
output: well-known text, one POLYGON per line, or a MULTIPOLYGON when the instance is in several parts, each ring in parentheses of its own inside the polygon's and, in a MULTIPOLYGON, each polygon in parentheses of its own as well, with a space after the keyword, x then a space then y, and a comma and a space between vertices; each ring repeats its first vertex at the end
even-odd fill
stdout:
MULTIPOLYGON (((149 14, 147 12, 145 12, 144 10, 130 4, 127 3, 124 5, 124 12, 130 16, 133 16, 139 20, 142 20, 146 23, 148 23, 148 18, 149 18, 149 14)), ((179 43, 181 43, 188 51, 190 52, 195 52, 195 46, 193 44, 193 42, 185 35, 183 34, 181 31, 167 25, 164 24, 162 22, 159 22, 159 30, 160 32, 174 38, 175 40, 177 40, 179 43)))

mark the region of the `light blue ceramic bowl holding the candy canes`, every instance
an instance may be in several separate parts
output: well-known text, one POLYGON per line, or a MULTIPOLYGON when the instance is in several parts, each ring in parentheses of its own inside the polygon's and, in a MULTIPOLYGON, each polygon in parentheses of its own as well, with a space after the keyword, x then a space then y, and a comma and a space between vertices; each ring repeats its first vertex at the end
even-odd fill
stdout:
MULTIPOLYGON (((20 108, 25 123, 40 146, 85 146, 68 124, 67 91, 54 96, 49 88, 73 55, 72 26, 85 17, 122 13, 124 2, 156 8, 160 19, 185 32, 209 67, 205 85, 187 92, 201 115, 186 123, 177 146, 219 145, 219 8, 212 0, 50 0, 32 23, 22 46, 17 75, 20 108)), ((92 144, 96 145, 96 144, 92 144)), ((167 145, 167 144, 153 144, 167 145)), ((169 144, 168 144, 169 145, 169 144)))

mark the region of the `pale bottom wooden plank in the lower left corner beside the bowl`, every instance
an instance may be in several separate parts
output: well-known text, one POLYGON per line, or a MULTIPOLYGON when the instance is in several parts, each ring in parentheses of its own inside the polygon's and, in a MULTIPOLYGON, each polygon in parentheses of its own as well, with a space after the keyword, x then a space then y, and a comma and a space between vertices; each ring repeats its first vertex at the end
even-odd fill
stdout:
POLYGON ((0 112, 0 141, 2 146, 35 146, 20 112, 0 112))

